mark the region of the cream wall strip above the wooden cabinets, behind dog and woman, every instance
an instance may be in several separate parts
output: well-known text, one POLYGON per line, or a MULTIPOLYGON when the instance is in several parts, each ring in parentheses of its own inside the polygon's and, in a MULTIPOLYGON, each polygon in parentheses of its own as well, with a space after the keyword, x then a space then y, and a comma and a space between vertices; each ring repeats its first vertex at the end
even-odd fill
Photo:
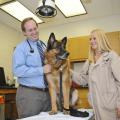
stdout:
POLYGON ((67 23, 45 29, 40 28, 40 38, 47 40, 51 32, 54 32, 58 39, 61 39, 64 36, 67 36, 68 38, 84 36, 88 35, 90 31, 95 28, 103 29, 105 32, 120 31, 120 14, 67 23))

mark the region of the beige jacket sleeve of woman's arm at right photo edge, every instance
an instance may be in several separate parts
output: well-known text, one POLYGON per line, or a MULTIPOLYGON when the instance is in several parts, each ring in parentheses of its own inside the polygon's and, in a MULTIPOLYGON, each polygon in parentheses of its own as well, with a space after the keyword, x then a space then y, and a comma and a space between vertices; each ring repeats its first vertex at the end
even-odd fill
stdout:
POLYGON ((118 90, 117 107, 120 108, 120 57, 115 52, 112 52, 111 68, 118 90))

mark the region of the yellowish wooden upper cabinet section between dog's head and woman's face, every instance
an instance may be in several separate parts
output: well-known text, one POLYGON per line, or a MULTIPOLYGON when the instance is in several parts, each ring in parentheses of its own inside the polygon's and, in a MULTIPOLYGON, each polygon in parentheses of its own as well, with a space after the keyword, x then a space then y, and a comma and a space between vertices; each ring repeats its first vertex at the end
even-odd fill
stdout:
POLYGON ((69 38, 67 48, 70 52, 69 58, 71 62, 85 60, 88 58, 89 37, 69 38))

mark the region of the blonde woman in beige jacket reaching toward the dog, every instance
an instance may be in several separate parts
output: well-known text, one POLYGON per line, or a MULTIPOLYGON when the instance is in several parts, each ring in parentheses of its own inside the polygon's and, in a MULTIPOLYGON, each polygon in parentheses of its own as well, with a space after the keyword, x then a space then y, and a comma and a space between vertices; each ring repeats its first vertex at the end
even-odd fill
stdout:
POLYGON ((91 32, 88 60, 79 75, 72 74, 78 84, 88 82, 95 120, 120 120, 120 58, 102 30, 91 32))

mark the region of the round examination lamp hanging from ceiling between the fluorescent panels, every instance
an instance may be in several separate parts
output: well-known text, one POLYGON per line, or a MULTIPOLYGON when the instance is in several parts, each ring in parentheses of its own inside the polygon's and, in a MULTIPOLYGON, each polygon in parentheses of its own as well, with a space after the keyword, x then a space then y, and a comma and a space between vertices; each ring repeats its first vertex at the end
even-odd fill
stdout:
POLYGON ((35 13, 41 17, 54 17, 57 15, 53 0, 41 0, 35 13))

